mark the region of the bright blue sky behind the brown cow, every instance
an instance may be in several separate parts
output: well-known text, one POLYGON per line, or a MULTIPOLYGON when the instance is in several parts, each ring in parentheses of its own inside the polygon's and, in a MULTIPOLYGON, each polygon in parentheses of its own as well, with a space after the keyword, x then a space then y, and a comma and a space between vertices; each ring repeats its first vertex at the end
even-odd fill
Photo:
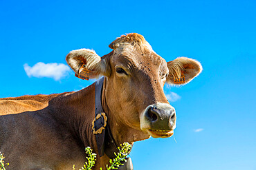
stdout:
POLYGON ((66 54, 85 47, 102 56, 116 37, 138 32, 166 61, 188 56, 203 72, 165 87, 176 142, 136 142, 134 169, 256 169, 255 9, 254 0, 0 1, 0 98, 80 90, 93 81, 76 78, 66 54))

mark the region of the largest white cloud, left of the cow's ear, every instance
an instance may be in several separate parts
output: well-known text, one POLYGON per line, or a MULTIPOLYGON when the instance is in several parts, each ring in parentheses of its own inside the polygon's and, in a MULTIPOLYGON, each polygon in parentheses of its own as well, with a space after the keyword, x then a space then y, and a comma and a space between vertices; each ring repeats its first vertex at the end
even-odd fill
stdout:
POLYGON ((30 67, 27 63, 24 64, 24 70, 29 77, 48 77, 53 78, 55 81, 59 81, 68 75, 71 69, 68 65, 62 63, 36 63, 33 67, 30 67))

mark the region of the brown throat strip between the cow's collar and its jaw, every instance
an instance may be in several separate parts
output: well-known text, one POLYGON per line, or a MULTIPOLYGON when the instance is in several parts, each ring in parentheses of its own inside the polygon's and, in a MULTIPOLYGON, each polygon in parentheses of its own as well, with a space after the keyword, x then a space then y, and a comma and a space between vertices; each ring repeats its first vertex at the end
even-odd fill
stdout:
POLYGON ((104 111, 107 113, 108 125, 111 129, 111 133, 116 142, 116 145, 120 145, 124 142, 129 142, 130 144, 133 144, 133 142, 136 142, 138 140, 145 140, 149 138, 147 134, 144 134, 138 129, 133 129, 128 125, 125 125, 125 123, 122 123, 122 121, 118 120, 118 116, 116 115, 119 113, 112 113, 109 110, 106 99, 106 83, 107 78, 104 78, 102 91, 102 107, 104 111))

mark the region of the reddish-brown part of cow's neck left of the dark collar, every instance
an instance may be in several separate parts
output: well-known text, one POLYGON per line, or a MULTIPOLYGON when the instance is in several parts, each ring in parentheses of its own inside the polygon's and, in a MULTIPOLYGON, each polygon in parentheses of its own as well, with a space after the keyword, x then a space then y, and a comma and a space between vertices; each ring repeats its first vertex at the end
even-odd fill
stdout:
MULTIPOLYGON (((84 147, 94 147, 91 122, 94 114, 94 84, 78 92, 71 92, 54 98, 49 102, 49 109, 57 122, 62 123, 75 138, 80 138, 84 147)), ((64 132, 66 133, 66 132, 64 132)))

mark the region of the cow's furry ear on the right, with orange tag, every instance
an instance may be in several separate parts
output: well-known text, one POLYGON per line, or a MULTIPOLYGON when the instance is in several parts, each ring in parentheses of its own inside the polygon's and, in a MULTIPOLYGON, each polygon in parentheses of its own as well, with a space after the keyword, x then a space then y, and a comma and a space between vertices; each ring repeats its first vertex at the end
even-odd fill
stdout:
POLYGON ((187 57, 179 57, 174 61, 170 61, 167 63, 167 67, 169 69, 167 83, 172 85, 189 83, 203 70, 202 65, 198 61, 188 59, 187 57))

